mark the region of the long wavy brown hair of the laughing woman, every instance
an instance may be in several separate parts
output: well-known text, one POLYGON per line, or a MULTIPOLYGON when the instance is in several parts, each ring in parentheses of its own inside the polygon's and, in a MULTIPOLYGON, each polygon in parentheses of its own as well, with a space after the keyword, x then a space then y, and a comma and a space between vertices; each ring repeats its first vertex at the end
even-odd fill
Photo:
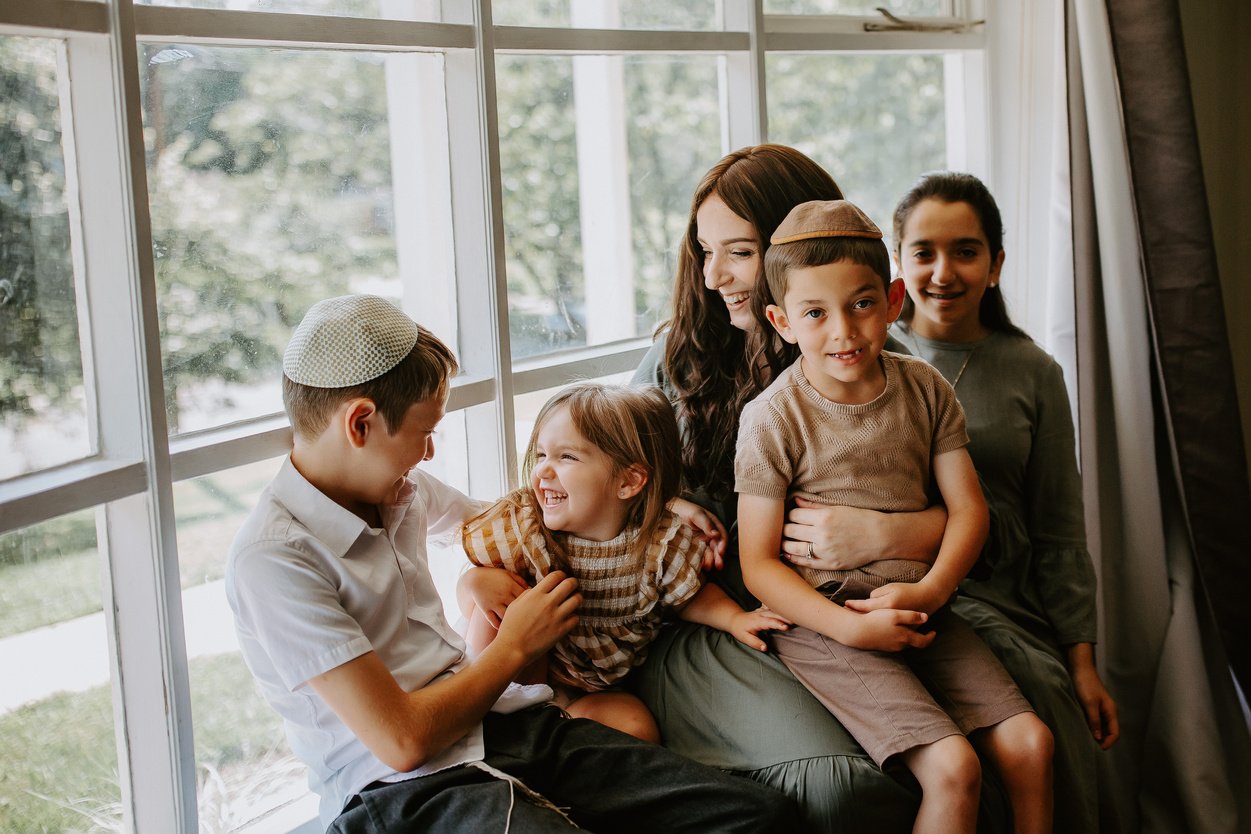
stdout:
MULTIPOLYGON (((753 145, 717 163, 691 199, 673 285, 673 318, 662 325, 668 328, 664 371, 677 389, 686 431, 686 485, 724 498, 734 485, 738 415, 794 356, 778 350, 772 339, 762 339, 763 329, 771 325, 756 301, 767 293, 753 291, 756 331, 744 333, 729 323, 721 294, 704 286, 696 213, 713 194, 756 228, 762 265, 769 235, 792 208, 808 200, 839 200, 843 194, 824 169, 793 148, 753 145)), ((763 281, 763 274, 757 275, 761 289, 763 281)))

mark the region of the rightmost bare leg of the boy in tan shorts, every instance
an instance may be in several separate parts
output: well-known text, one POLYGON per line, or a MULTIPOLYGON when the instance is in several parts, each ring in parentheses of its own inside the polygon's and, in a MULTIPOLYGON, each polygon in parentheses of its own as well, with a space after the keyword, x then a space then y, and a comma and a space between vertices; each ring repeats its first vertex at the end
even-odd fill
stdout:
POLYGON ((1045 834, 1052 829, 1055 790, 1051 759, 1055 739, 1033 713, 1013 715, 978 730, 977 749, 995 763, 1012 801, 1016 834, 1045 834))

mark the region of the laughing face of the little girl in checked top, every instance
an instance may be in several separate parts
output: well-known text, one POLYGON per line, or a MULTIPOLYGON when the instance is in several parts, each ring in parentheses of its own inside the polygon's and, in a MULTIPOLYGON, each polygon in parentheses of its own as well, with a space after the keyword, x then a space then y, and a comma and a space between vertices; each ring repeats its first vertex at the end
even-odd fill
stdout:
POLYGON ((608 455, 582 436, 568 408, 548 411, 534 435, 530 471, 543 524, 592 541, 618 536, 642 483, 633 483, 632 470, 614 469, 608 455))

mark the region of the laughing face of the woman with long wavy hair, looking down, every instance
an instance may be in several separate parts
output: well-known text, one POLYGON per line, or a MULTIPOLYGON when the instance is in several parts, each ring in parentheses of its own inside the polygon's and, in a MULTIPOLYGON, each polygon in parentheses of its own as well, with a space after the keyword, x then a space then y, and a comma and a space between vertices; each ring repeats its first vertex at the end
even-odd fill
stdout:
POLYGON ((721 294, 732 325, 751 330, 756 326, 752 290, 761 274, 756 226, 712 194, 696 211, 696 235, 703 250, 704 286, 721 294))

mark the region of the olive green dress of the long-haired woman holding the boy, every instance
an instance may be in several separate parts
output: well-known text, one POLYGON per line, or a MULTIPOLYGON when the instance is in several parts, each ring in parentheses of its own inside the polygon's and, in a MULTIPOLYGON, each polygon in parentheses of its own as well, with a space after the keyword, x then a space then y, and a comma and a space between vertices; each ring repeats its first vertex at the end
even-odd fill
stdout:
MULTIPOLYGON (((663 359, 662 336, 633 381, 657 384, 673 400, 663 359)), ((727 565, 714 580, 741 605, 754 608, 758 603, 743 586, 738 566, 734 501, 688 498, 717 513, 731 533, 727 565)), ((667 746, 796 796, 811 830, 912 830, 921 796, 912 775, 897 763, 879 769, 773 654, 717 629, 676 623, 628 680, 656 716, 667 746)), ((1011 830, 1011 810, 993 774, 987 775, 978 819, 981 831, 1011 830)))

